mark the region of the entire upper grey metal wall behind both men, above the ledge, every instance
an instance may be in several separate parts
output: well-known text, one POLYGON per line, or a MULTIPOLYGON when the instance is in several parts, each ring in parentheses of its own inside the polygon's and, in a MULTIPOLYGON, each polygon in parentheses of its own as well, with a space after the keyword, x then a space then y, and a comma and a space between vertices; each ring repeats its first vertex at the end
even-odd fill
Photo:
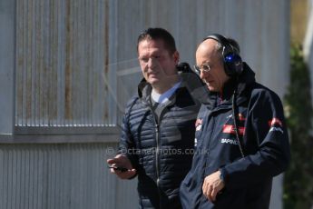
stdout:
POLYGON ((286 1, 16 0, 16 126, 115 125, 140 80, 136 41, 149 26, 168 29, 191 65, 203 37, 232 36, 259 82, 285 91, 286 1))

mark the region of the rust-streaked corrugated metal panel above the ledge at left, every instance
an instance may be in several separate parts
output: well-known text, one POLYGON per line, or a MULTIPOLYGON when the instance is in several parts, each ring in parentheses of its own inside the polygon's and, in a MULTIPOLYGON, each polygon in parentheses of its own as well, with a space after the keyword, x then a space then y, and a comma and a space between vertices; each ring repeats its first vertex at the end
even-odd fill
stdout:
POLYGON ((16 126, 116 124, 111 2, 16 0, 16 126))

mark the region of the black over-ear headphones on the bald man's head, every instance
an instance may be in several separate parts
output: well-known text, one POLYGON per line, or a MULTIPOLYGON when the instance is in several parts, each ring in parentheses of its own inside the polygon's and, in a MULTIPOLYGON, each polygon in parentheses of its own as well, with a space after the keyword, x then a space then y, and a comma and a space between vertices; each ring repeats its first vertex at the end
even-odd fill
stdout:
POLYGON ((229 75, 230 77, 240 75, 243 67, 238 49, 231 45, 227 38, 223 35, 211 34, 204 38, 203 41, 207 39, 214 39, 220 43, 222 47, 222 58, 226 75, 229 75))

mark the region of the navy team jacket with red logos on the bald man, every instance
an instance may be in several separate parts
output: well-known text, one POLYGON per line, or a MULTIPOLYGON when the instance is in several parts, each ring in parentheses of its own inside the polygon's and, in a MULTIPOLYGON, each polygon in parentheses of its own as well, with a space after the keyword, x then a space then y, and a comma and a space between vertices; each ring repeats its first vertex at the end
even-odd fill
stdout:
POLYGON ((272 178, 289 164, 289 136, 279 96, 255 82, 247 64, 239 82, 222 95, 210 94, 196 122, 191 171, 181 183, 183 208, 269 208, 272 178), (237 86, 238 126, 244 157, 234 131, 232 96, 237 86), (220 170, 224 189, 211 203, 202 194, 206 176, 220 170))

